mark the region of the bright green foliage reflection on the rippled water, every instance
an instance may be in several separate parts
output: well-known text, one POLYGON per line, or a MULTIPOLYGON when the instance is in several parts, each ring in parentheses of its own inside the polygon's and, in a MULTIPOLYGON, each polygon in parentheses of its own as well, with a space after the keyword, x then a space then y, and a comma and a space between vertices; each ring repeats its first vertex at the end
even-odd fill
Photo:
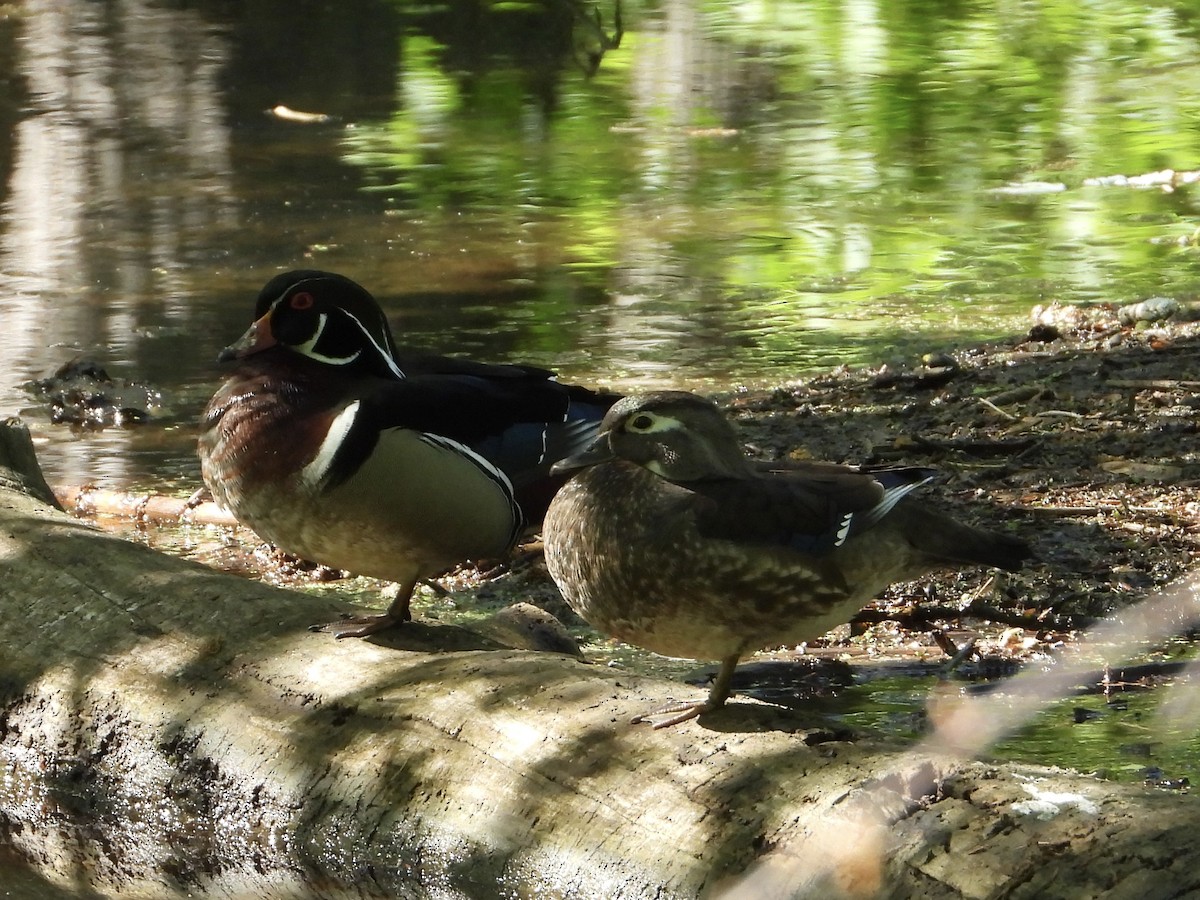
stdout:
MULTIPOLYGON (((1194 286, 1172 242, 1190 190, 1084 182, 1200 166, 1195 5, 634 2, 594 68, 578 4, 401 8, 396 112, 347 132, 346 158, 402 230, 484 223, 546 292, 548 334, 584 284, 676 335, 700 304, 727 316, 730 373, 774 378, 916 326, 978 337, 1051 299, 1194 286), (1001 192, 1030 182, 1061 190, 1001 192), (782 344, 790 371, 757 371, 782 344)), ((584 311, 638 326, 611 313, 584 311)), ((686 368, 685 343, 646 354, 686 368)))

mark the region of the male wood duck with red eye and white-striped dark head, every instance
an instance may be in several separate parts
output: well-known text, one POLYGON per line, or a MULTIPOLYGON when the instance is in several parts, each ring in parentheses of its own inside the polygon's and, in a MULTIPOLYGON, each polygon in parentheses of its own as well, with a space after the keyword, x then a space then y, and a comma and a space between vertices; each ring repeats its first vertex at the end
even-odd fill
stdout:
POLYGON ((382 616, 317 626, 362 637, 410 618, 422 578, 505 554, 588 445, 616 395, 533 366, 397 352, 362 287, 289 271, 221 361, 200 469, 216 500, 260 538, 326 565, 398 583, 382 616))

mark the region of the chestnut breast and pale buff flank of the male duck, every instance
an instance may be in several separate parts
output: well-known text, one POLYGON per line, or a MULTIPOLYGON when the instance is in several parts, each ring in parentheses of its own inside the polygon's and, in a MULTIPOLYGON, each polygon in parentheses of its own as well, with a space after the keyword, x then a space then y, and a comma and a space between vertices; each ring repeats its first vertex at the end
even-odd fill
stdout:
POLYGON ((503 475, 446 442, 388 428, 352 476, 326 479, 358 412, 347 395, 336 373, 308 378, 302 364, 244 366, 204 416, 214 498, 282 550, 391 581, 509 550, 520 514, 503 475))

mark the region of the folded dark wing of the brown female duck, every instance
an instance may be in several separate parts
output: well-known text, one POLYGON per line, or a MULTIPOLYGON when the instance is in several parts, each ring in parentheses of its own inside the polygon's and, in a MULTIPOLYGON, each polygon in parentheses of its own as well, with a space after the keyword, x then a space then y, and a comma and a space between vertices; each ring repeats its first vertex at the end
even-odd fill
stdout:
POLYGON ((877 524, 934 469, 797 463, 742 479, 692 481, 704 536, 791 547, 821 556, 877 524))

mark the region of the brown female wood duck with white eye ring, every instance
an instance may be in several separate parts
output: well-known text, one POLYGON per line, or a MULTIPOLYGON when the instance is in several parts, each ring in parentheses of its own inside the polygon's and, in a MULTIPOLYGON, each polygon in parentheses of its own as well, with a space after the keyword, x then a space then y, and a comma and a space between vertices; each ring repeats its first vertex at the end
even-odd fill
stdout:
POLYGON ((1030 556, 910 498, 932 469, 752 463, 692 394, 619 401, 595 443, 554 466, 574 469, 542 529, 571 607, 655 653, 721 660, 708 698, 656 710, 673 715, 655 727, 719 708, 742 656, 817 637, 893 581, 1030 556))

